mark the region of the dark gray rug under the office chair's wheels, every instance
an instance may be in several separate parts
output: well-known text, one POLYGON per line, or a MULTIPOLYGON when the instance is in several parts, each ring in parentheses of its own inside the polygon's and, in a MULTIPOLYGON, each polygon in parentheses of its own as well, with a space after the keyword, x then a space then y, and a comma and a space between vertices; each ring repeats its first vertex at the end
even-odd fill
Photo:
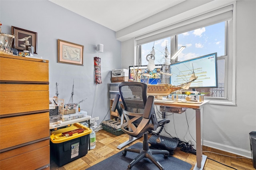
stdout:
MULTIPOLYGON (((142 148, 142 143, 136 143, 131 148, 142 148)), ((175 154, 175 153, 174 153, 175 154)), ((87 170, 126 170, 128 164, 138 155, 138 153, 127 152, 126 156, 122 155, 122 151, 110 156, 106 160, 99 162, 98 164, 91 166, 87 170)), ((184 162, 173 156, 169 156, 167 159, 162 154, 155 154, 154 157, 160 162, 165 170, 190 170, 191 164, 184 162)), ((140 160, 132 167, 132 170, 159 170, 157 166, 152 163, 148 158, 140 160)))

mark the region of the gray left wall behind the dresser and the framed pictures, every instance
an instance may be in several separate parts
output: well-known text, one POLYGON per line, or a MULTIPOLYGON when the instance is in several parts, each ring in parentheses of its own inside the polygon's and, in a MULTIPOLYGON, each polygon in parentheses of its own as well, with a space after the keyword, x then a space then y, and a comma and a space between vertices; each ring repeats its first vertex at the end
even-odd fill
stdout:
POLYGON ((68 103, 74 80, 74 102, 80 103, 82 110, 100 117, 100 123, 109 114, 108 83, 111 70, 121 65, 121 43, 115 32, 91 20, 83 18, 48 0, 1 0, 0 21, 2 31, 11 33, 11 26, 38 33, 38 55, 49 60, 49 93, 55 96, 58 82, 59 98, 68 103), (84 66, 57 62, 57 40, 65 40, 84 45, 84 66), (101 57, 102 84, 96 85, 94 78, 94 57, 98 56, 96 45, 104 44, 101 57), (95 97, 95 98, 94 98, 95 97))

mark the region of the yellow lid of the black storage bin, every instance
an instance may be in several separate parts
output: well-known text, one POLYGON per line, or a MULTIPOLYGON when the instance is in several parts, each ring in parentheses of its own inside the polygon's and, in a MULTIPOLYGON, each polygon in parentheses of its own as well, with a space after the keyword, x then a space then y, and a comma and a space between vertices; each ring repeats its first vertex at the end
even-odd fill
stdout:
POLYGON ((52 143, 62 143, 62 142, 66 142, 68 140, 72 140, 72 139, 79 138, 81 136, 90 134, 91 132, 92 132, 92 129, 90 129, 80 123, 74 123, 70 127, 61 128, 61 129, 51 132, 50 138, 51 138, 52 143), (68 137, 62 136, 63 132, 68 132, 68 131, 75 130, 78 128, 83 128, 84 132, 79 133, 79 134, 75 133, 75 134, 72 134, 72 136, 68 136, 68 137))

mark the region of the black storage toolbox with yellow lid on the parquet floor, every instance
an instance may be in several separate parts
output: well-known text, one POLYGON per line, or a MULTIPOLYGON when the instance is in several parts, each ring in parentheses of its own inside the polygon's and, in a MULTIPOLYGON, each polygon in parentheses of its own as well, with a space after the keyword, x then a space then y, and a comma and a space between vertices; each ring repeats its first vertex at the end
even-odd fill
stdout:
POLYGON ((51 132, 50 156, 58 166, 63 166, 88 153, 88 144, 92 129, 74 123, 70 127, 51 132))

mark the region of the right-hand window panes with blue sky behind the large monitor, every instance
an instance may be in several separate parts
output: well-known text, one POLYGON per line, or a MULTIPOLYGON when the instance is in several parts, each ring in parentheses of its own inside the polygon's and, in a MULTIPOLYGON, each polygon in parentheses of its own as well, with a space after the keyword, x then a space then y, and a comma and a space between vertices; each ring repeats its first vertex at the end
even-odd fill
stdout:
MULTIPOLYGON (((226 56, 226 22, 220 22, 211 26, 198 28, 178 35, 178 47, 186 46, 178 61, 184 61, 217 52, 219 56, 226 56)), ((223 59, 218 60, 218 88, 199 89, 196 91, 204 93, 205 97, 226 97, 224 89, 224 70, 223 59)))

